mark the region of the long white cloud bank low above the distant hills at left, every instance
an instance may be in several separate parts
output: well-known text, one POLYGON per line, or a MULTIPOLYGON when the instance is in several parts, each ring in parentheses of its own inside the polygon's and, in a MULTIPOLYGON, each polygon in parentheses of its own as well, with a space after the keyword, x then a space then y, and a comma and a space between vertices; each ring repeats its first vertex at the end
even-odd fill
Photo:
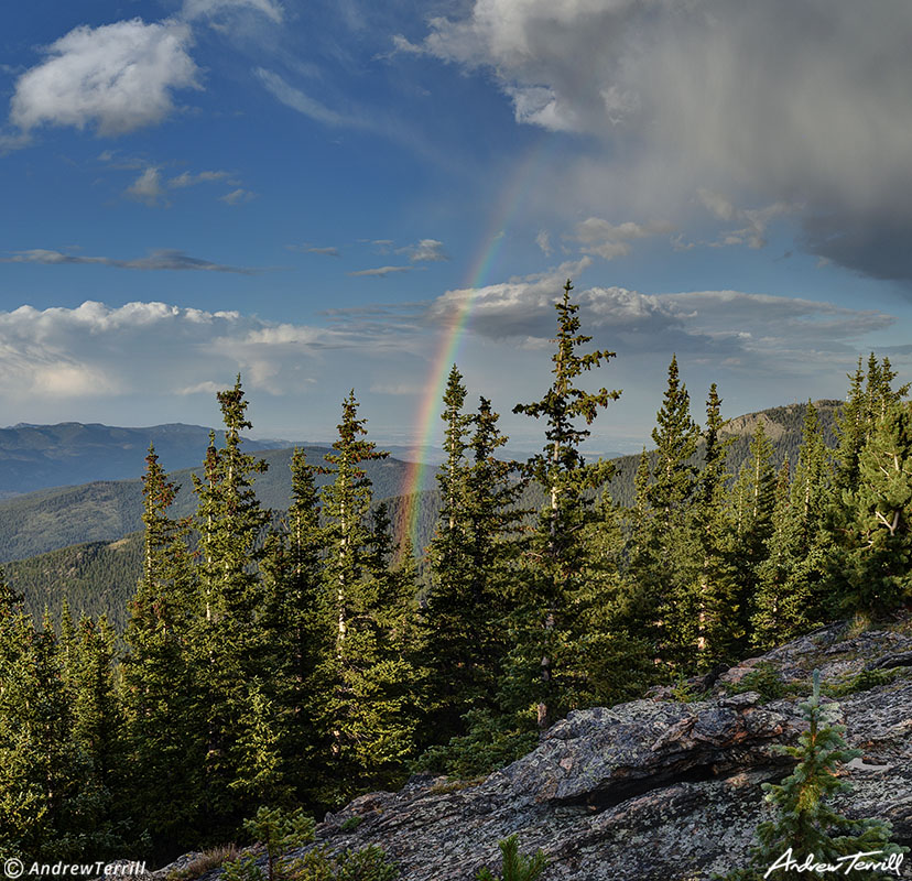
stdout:
POLYGON ((17 399, 210 394, 238 370, 251 388, 284 394, 302 381, 307 359, 366 346, 350 330, 155 302, 0 312, 4 394, 17 399), (188 384, 188 377, 204 379, 188 384))

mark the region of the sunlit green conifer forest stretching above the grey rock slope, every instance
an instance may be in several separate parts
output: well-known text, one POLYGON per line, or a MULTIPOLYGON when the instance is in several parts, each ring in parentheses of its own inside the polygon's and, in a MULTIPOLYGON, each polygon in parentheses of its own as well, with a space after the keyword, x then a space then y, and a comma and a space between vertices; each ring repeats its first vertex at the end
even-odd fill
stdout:
POLYGON ((724 390, 688 390, 671 357, 620 500, 582 452, 621 395, 614 358, 567 282, 551 384, 514 409, 541 432, 526 461, 453 366, 427 547, 374 501, 365 465, 387 454, 357 390, 332 453, 295 453, 289 509, 264 508, 238 377, 192 486, 149 450, 122 633, 34 618, 0 578, 0 859, 162 863, 238 840, 263 806, 319 816, 416 772, 477 777, 573 709, 912 602, 912 409, 888 359, 859 359, 835 440, 808 404, 795 456, 774 463, 761 421, 732 467, 724 390))

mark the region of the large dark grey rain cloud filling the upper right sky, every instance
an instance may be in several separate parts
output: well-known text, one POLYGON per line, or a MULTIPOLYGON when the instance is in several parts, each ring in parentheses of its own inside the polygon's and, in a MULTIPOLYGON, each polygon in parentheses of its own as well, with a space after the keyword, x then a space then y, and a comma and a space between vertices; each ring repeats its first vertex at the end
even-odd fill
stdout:
POLYGON ((749 247, 799 206, 807 250, 912 280, 910 40, 904 0, 475 0, 397 45, 486 70, 520 123, 589 135, 565 182, 584 204, 681 226, 698 189, 725 193, 703 199, 738 224, 715 243, 749 247))

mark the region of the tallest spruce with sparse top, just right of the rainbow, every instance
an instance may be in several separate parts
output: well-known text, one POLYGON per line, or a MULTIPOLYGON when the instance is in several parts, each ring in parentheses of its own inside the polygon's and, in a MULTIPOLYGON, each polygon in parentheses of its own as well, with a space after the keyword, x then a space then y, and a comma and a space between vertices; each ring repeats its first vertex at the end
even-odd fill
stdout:
POLYGON ((577 602, 586 557, 582 526, 591 514, 591 493, 611 475, 606 461, 586 463, 579 450, 599 410, 620 396, 600 389, 590 393, 575 381, 600 367, 615 352, 580 354, 591 337, 579 333, 579 306, 571 302, 573 285, 564 285, 557 311, 554 380, 540 401, 518 404, 523 413, 546 422, 546 444, 529 459, 526 471, 545 490, 549 503, 539 516, 526 559, 528 586, 520 617, 520 643, 513 652, 514 694, 535 705, 539 728, 545 728, 575 703, 580 673, 576 664, 582 633, 577 602))

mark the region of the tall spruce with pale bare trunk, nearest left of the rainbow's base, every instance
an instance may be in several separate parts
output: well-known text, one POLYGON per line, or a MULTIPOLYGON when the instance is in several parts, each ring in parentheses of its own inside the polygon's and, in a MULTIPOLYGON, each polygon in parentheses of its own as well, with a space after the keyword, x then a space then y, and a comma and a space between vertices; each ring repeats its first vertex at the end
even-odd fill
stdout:
MULTIPOLYGON (((390 574, 389 519, 371 516, 363 463, 387 453, 365 439, 355 392, 343 401, 339 437, 327 461, 335 479, 323 491, 326 518, 323 621, 332 634, 321 664, 313 713, 323 741, 324 801, 388 784, 413 750, 413 666, 403 619, 406 587, 390 574)), ((410 598, 411 599, 411 598, 410 598)))

